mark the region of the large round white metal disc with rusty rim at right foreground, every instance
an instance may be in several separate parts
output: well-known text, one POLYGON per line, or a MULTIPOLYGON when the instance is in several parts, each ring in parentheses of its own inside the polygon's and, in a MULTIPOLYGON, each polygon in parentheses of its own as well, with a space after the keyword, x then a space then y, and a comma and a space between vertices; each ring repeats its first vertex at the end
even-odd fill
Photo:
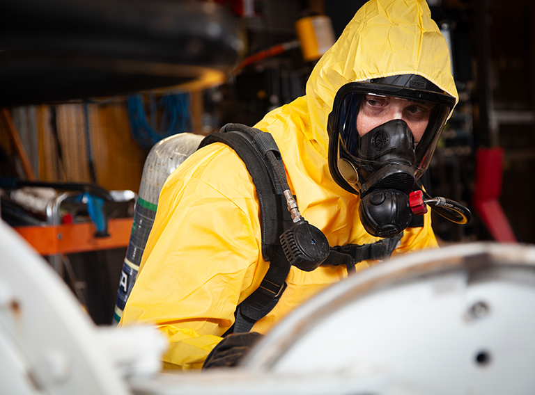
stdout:
POLYGON ((497 244, 392 259, 295 310, 243 366, 370 371, 412 394, 532 394, 534 263, 534 247, 497 244))

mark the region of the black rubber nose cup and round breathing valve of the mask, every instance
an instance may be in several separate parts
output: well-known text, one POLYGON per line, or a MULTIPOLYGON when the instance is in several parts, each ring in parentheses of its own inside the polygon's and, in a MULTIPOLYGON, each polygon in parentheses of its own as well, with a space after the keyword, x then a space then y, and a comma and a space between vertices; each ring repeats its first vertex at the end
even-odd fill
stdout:
POLYGON ((364 229, 379 237, 394 237, 412 219, 408 194, 414 187, 414 136, 403 120, 391 120, 360 138, 362 160, 359 216, 364 229))

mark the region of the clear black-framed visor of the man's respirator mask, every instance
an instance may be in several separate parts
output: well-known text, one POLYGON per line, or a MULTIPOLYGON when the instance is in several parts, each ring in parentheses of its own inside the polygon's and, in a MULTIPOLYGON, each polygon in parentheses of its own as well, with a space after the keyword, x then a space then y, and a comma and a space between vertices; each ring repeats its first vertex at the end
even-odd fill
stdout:
MULTIPOLYGON (((329 168, 335 181, 346 190, 361 194, 362 185, 366 179, 386 165, 408 166, 412 168, 414 179, 418 179, 429 165, 454 104, 454 97, 430 90, 416 90, 380 83, 346 84, 336 94, 328 123, 329 168), (387 133, 374 136, 372 140, 369 133, 373 133, 375 129, 370 131, 362 127, 362 119, 365 119, 365 115, 372 120, 375 118, 385 120, 387 124, 390 119, 383 111, 394 104, 396 108, 403 108, 403 118, 407 118, 405 115, 408 116, 408 123, 401 120, 399 116, 391 117, 394 118, 391 120, 397 119, 398 127, 402 127, 401 123, 414 126, 414 122, 411 123, 411 121, 419 118, 414 118, 413 115, 426 111, 427 122, 423 124, 423 127, 422 123, 419 123, 419 140, 414 141, 413 148, 406 147, 408 145, 406 134, 387 133), (362 118, 359 119, 361 112, 362 118), (364 129, 364 133, 363 130, 359 133, 357 124, 360 129, 364 129), (398 141, 387 141, 388 138, 398 139, 398 141), (373 147, 381 144, 398 146, 399 150, 396 154, 392 154, 390 159, 384 152, 375 155, 373 147), (400 154, 402 149, 405 150, 405 154, 400 154), (413 159, 410 159, 411 157, 413 159)), ((414 129, 418 130, 417 127, 414 129)), ((408 130, 411 131, 410 127, 408 130)))

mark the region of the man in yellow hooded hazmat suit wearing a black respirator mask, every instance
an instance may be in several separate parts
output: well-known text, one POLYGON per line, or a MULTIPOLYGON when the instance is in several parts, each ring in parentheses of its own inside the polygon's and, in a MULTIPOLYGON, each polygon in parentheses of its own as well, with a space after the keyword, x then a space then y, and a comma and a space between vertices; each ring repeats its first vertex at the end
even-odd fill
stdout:
MULTIPOLYGON (((449 65, 448 47, 425 0, 371 0, 318 61, 307 94, 256 124, 274 137, 301 213, 329 245, 380 239, 359 220, 366 177, 373 178, 374 159, 366 155, 373 145, 388 143, 384 132, 377 134, 386 124, 396 129, 394 144, 412 147, 408 168, 416 177, 425 171, 458 97, 449 65)), ((371 198, 373 204, 377 199, 371 198)), ((394 255, 435 247, 427 213, 423 227, 405 229, 394 255)), ((370 264, 361 261, 356 269, 370 264)), ((254 184, 237 154, 213 143, 164 184, 121 324, 156 323, 171 342, 164 366, 200 368, 268 266, 254 184)), ((251 332, 267 332, 346 276, 345 266, 310 272, 292 267, 279 303, 251 332)))

